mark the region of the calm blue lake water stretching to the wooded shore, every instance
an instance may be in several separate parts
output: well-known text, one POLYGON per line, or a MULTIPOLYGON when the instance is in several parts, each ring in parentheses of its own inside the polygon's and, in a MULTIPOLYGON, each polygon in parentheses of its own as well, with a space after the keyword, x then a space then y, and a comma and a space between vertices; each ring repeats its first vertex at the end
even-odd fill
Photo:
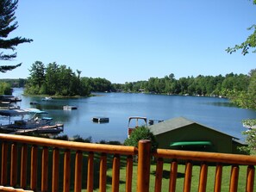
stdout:
POLYGON ((72 137, 79 134, 93 141, 119 140, 127 138, 128 117, 146 116, 153 120, 168 120, 183 116, 208 127, 215 128, 234 137, 243 139, 246 130, 241 121, 256 118, 254 110, 236 108, 228 99, 198 96, 159 96, 148 94, 99 93, 100 96, 78 99, 53 99, 43 102, 41 98, 22 96, 22 89, 16 89, 15 96, 21 96, 21 108, 46 110, 54 121, 64 123, 64 133, 72 137), (31 106, 31 101, 39 102, 31 106), (77 110, 65 111, 63 105, 76 105, 77 110), (109 123, 91 121, 93 116, 109 117, 109 123))

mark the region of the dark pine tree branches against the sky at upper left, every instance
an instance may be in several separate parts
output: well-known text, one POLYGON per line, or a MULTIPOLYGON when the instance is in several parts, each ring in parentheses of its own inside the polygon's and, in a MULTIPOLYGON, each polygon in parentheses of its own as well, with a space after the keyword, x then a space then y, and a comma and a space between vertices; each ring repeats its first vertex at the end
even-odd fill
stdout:
MULTIPOLYGON (((7 39, 9 33, 18 28, 18 22, 16 22, 15 10, 17 9, 18 0, 0 0, 0 61, 7 61, 15 59, 17 53, 4 54, 1 49, 16 51, 16 46, 21 43, 31 42, 33 40, 22 37, 15 37, 7 39)), ((22 65, 0 65, 0 72, 6 72, 22 65)))

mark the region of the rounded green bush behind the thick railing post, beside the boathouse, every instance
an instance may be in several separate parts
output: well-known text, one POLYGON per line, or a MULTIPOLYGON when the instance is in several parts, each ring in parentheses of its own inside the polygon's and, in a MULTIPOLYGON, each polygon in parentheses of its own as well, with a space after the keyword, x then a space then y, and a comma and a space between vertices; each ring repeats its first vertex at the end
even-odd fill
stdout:
POLYGON ((138 147, 138 143, 140 139, 149 139, 151 140, 152 150, 156 150, 158 147, 158 143, 156 142, 155 136, 147 127, 136 127, 134 131, 131 133, 128 139, 125 139, 125 146, 136 146, 138 147))

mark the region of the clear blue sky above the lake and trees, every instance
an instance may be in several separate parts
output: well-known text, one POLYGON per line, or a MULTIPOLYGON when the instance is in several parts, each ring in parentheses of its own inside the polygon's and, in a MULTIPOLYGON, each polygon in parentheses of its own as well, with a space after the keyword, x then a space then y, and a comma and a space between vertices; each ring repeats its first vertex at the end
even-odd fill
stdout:
POLYGON ((20 0, 18 5, 19 28, 9 37, 34 41, 17 46, 16 60, 7 64, 22 66, 1 78, 28 77, 37 60, 121 84, 171 73, 216 76, 256 68, 255 53, 225 52, 252 33, 247 30, 256 23, 252 1, 20 0))

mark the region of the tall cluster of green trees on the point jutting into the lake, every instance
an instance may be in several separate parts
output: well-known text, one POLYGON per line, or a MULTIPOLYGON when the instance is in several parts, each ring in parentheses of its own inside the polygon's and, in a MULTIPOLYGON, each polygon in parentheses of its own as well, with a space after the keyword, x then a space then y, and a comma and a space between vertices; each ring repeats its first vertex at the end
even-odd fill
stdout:
POLYGON ((28 95, 89 96, 91 92, 111 90, 109 80, 80 77, 82 71, 73 71, 56 62, 44 65, 41 61, 35 61, 29 72, 24 90, 28 95))

